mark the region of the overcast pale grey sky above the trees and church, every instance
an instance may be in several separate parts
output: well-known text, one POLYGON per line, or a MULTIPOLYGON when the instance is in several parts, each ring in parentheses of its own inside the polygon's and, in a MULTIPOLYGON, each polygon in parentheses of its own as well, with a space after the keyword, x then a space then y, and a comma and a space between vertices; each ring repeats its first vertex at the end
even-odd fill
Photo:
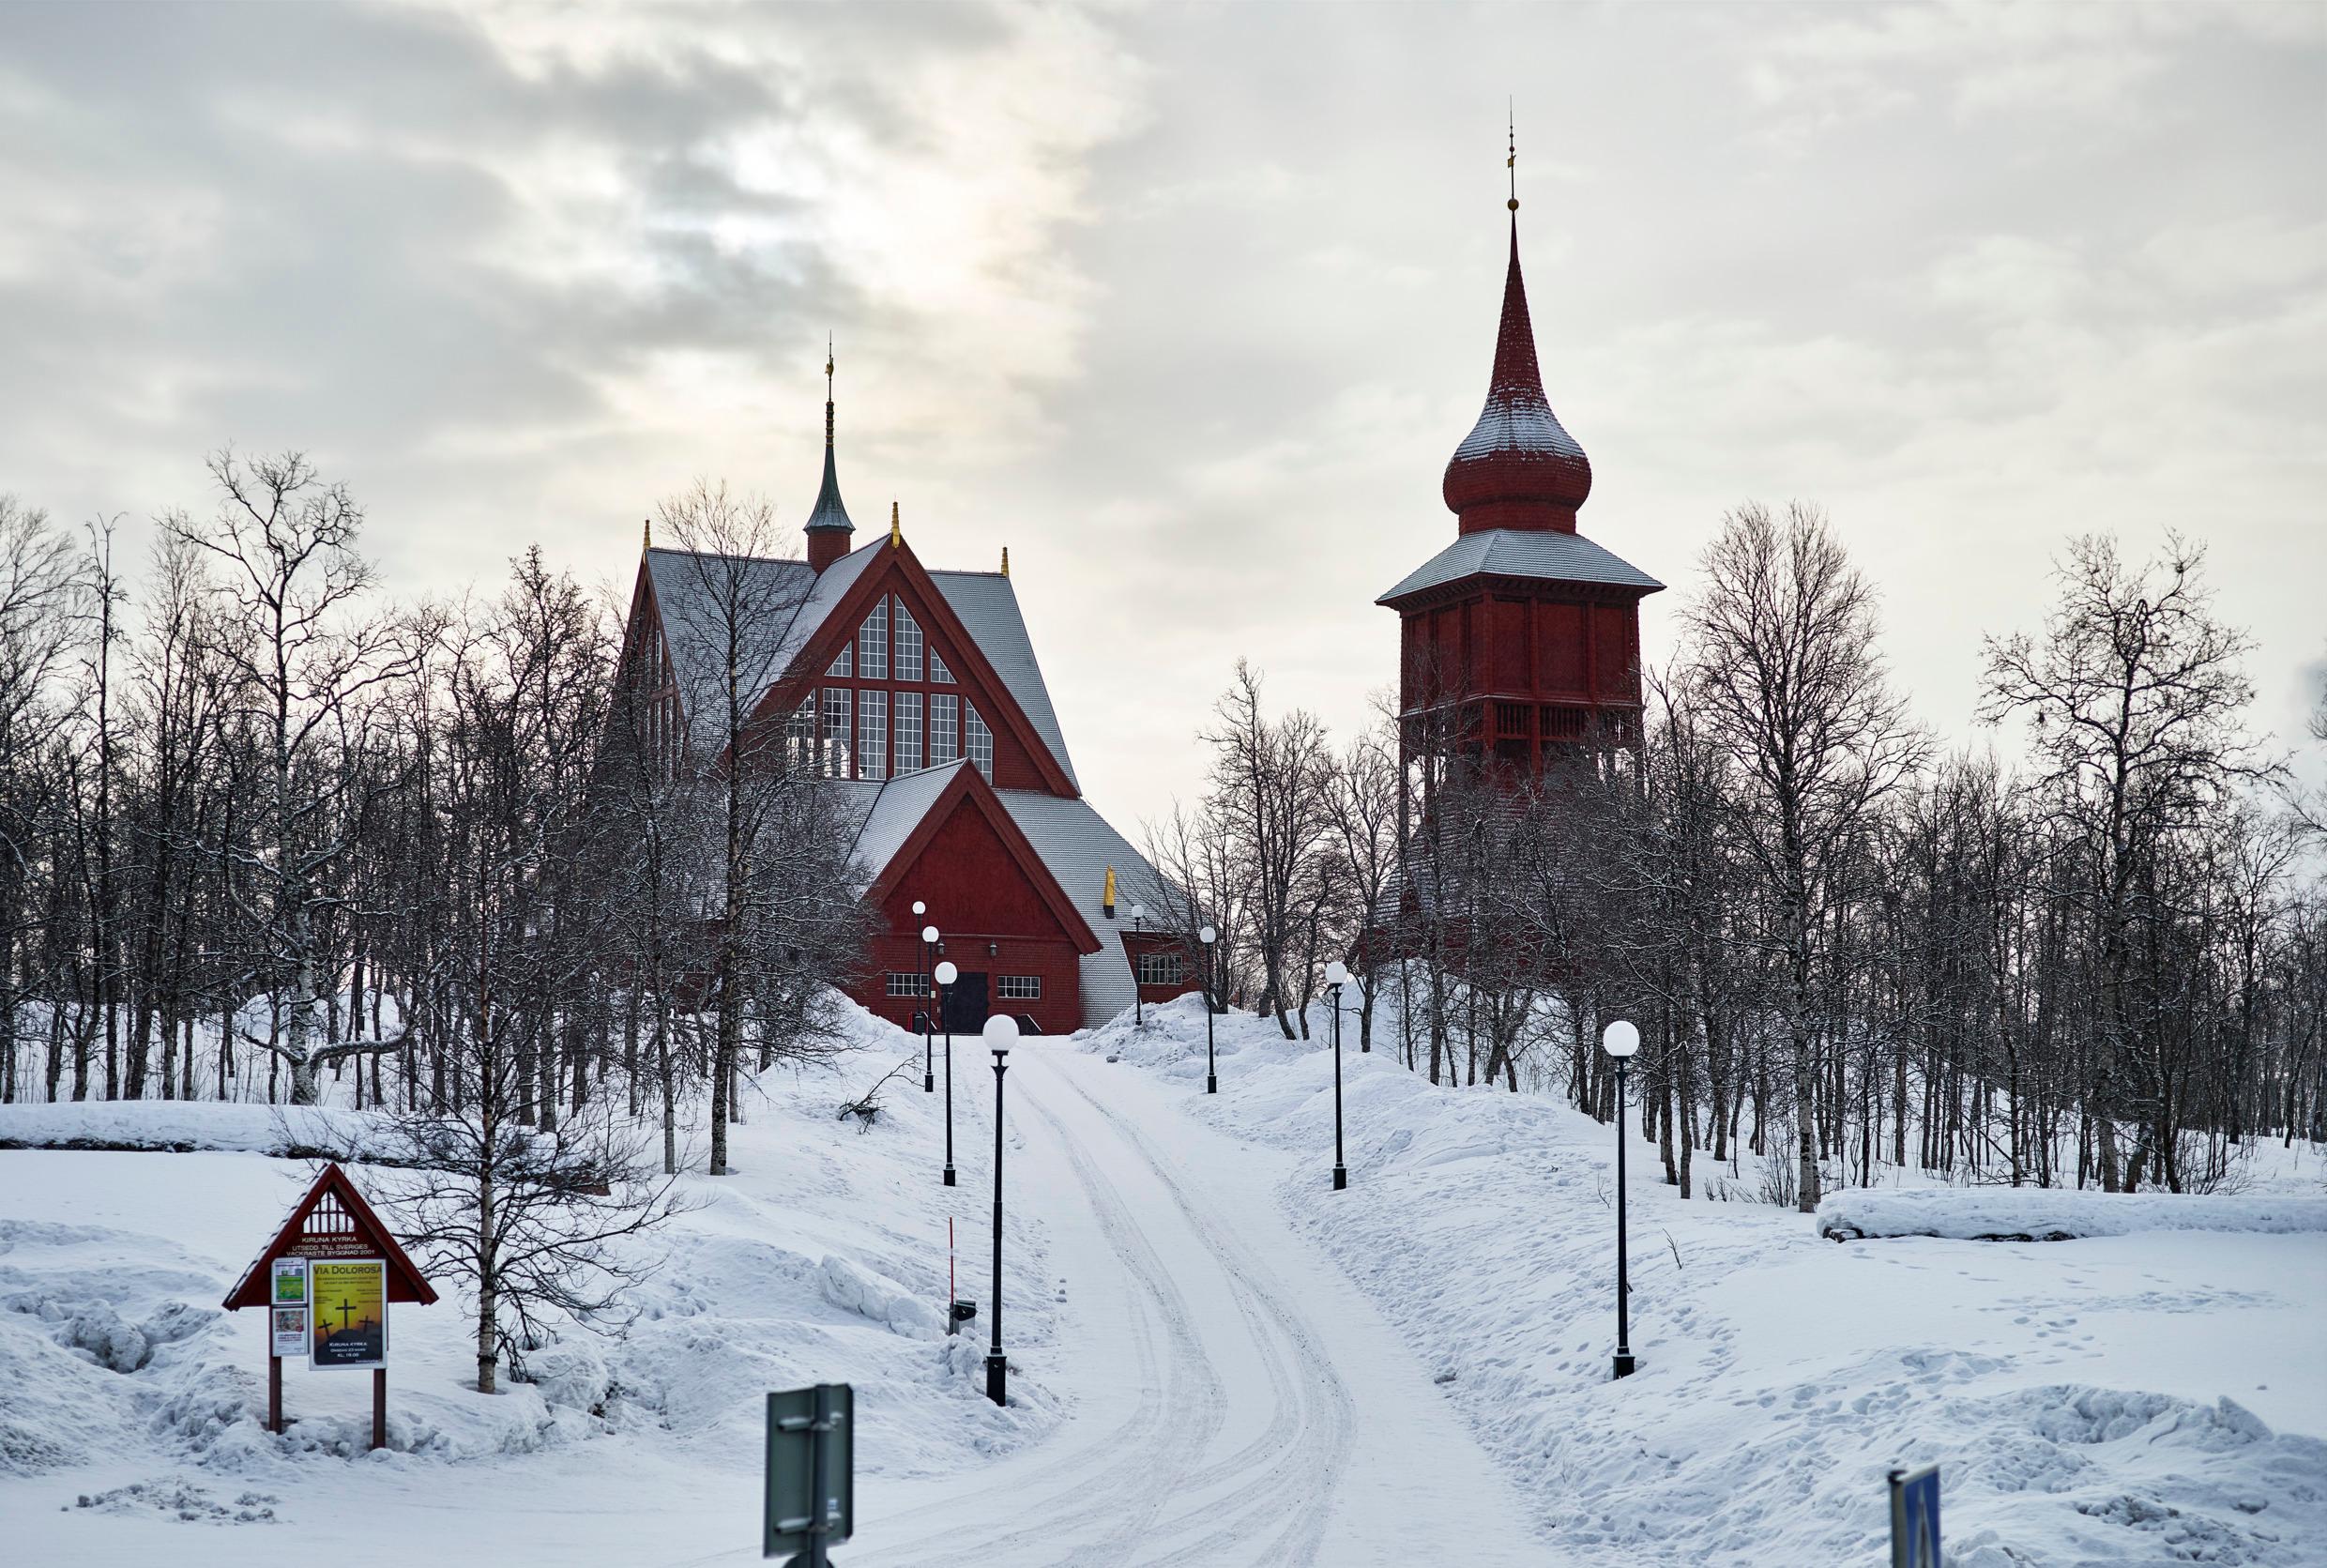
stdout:
POLYGON ((1347 730, 1454 537, 1503 116, 1589 537, 1822 503, 1922 717, 2078 530, 2327 672, 2327 7, 0 7, 0 491, 309 451, 400 596, 628 591, 698 475, 1012 577, 1094 800, 1236 656, 1347 730))

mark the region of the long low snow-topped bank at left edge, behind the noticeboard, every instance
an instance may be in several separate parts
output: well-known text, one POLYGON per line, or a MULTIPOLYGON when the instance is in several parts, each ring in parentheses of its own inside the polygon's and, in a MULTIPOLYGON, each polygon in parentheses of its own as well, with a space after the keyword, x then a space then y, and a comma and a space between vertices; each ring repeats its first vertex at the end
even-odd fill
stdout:
POLYGON ((230 1100, 58 1100, 0 1105, 0 1149, 112 1149, 363 1159, 384 1142, 377 1117, 326 1105, 230 1100))

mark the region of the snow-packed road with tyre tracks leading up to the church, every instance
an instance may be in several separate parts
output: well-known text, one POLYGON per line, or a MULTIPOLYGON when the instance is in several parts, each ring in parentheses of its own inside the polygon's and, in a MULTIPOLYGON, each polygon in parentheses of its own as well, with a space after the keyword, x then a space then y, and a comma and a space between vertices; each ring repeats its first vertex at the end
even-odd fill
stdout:
POLYGON ((1552 1561, 1429 1368, 1280 1219, 1287 1156, 1042 1042, 1017 1052, 1010 1131, 1005 1200, 1042 1205, 1059 1280, 1005 1275, 1003 1345, 1010 1296, 1061 1291, 1029 1370, 1075 1405, 982 1470, 861 1482, 847 1568, 1552 1561))

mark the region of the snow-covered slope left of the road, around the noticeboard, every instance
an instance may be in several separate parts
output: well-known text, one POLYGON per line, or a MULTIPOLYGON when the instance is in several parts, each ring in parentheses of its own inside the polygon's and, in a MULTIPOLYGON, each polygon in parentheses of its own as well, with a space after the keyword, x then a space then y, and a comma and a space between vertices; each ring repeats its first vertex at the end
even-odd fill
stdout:
MULTIPOLYGON (((361 1519, 379 1554, 349 1561, 659 1563, 735 1547, 756 1528, 766 1396, 810 1382, 854 1384, 868 1480, 954 1473, 1040 1438, 1061 1414, 1045 1382, 1054 1303, 1010 1303, 1008 1410, 984 1398, 984 1347, 945 1335, 947 1219, 961 1293, 984 1296, 970 1280, 991 1247, 991 1096, 956 1093, 954 1189, 938 1182, 942 1098, 919 1079, 891 1084, 870 1126, 835 1117, 908 1052, 919 1059, 919 1038, 854 1014, 833 1065, 747 1089, 735 1173, 684 1177, 696 1207, 638 1242, 659 1266, 626 1300, 624 1338, 565 1333, 479 1396, 463 1291, 440 1280, 440 1305, 396 1307, 379 1454, 370 1380, 303 1363, 284 1373, 291 1428, 268 1433, 263 1314, 219 1310, 314 1175, 272 1152, 305 1142, 300 1128, 358 1140, 370 1117, 7 1107, 0 1559, 126 1561, 156 1545, 130 1531, 156 1521, 188 1563, 249 1554, 235 1531, 175 1533, 191 1521, 361 1519)), ((696 1173, 700 1145, 689 1128, 696 1173)), ((1005 1247, 1033 1277, 1038 1217, 1012 1212, 1005 1247)))

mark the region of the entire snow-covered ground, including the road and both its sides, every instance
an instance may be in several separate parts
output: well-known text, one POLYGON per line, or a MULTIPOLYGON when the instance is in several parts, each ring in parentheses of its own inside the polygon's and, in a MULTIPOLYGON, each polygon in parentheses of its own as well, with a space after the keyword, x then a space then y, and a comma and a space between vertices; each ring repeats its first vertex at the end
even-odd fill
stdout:
POLYGON ((1641 1373, 1610 1382, 1613 1128, 1352 1038, 1336 1193, 1331 1052, 1219 1042, 1212 1098, 1191 1000, 1022 1045, 1010 1410, 982 1398, 984 1052, 945 1189, 917 1075, 870 1131, 835 1119, 919 1049, 859 1019, 838 1068, 759 1084, 738 1175, 689 1179, 628 1340, 484 1398, 461 1307, 400 1307, 389 1454, 368 1380, 305 1368, 268 1435, 261 1324, 216 1312, 309 1175, 265 1154, 284 1119, 0 1107, 0 1561, 205 1568, 296 1531, 347 1563, 742 1563, 763 1394, 847 1380, 849 1568, 1871 1563, 1883 1470, 1927 1459, 1959 1566, 2327 1563, 2318 1231, 1838 1245, 1682 1203, 1634 1145, 1641 1373), (81 1128, 202 1152, 5 1149, 81 1128))

